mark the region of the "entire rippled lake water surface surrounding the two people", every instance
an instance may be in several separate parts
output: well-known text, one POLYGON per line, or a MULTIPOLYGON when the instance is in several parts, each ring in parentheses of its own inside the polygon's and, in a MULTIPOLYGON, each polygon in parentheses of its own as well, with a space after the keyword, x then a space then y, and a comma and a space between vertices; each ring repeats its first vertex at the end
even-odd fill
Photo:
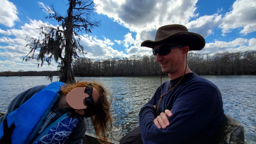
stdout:
MULTIPOLYGON (((256 76, 203 76, 216 84, 222 93, 224 112, 244 125, 245 143, 256 143, 256 76)), ((140 108, 160 85, 160 76, 76 77, 103 84, 113 96, 114 139, 138 126, 140 108)), ((164 76, 163 82, 169 77, 164 76)), ((5 112, 20 92, 40 84, 50 84, 45 76, 0 77, 0 111, 5 112)), ((58 81, 57 77, 53 81, 58 81)))

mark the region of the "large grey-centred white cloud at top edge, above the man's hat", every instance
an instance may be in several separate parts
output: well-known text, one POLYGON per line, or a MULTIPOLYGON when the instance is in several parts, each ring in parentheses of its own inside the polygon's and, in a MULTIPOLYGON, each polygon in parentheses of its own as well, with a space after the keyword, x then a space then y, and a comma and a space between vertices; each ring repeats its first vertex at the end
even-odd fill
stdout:
POLYGON ((95 0, 97 12, 113 18, 131 31, 150 31, 172 23, 188 23, 197 17, 197 0, 95 0), (109 6, 111 5, 111 6, 109 6))

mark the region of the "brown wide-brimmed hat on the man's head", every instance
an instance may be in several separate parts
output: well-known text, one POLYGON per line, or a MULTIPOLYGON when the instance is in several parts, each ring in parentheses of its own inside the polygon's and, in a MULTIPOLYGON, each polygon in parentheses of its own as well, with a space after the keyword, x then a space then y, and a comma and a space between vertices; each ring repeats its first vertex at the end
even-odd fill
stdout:
POLYGON ((183 25, 173 24, 157 29, 155 41, 146 40, 140 46, 154 48, 158 44, 181 44, 189 47, 189 51, 200 51, 205 46, 205 40, 196 33, 188 32, 183 25))

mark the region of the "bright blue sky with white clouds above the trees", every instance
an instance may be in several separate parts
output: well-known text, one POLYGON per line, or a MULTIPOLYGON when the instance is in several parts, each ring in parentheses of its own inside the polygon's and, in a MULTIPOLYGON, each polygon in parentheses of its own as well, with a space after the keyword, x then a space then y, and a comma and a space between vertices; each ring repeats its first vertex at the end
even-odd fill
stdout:
MULTIPOLYGON (((0 0, 0 72, 57 70, 57 64, 37 68, 36 60, 22 61, 29 52, 27 36, 39 36, 42 23, 58 26, 48 16, 54 9, 66 16, 67 0, 0 0)), ((154 40, 157 28, 182 24, 205 39, 199 54, 256 50, 256 0, 94 0, 91 20, 101 26, 81 33, 87 58, 104 60, 151 55, 140 47, 154 40)))

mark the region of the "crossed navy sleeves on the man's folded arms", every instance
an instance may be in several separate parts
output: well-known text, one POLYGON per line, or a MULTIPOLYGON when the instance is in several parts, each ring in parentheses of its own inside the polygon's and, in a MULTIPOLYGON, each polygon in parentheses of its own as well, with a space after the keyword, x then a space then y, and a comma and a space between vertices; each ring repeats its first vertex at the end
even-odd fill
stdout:
POLYGON ((221 112, 222 101, 219 95, 215 87, 202 84, 183 90, 173 104, 167 104, 172 116, 168 117, 170 125, 165 129, 156 127, 153 122, 156 118, 154 107, 150 103, 145 104, 139 113, 143 142, 178 144, 194 137, 205 127, 209 127, 211 121, 221 112))

